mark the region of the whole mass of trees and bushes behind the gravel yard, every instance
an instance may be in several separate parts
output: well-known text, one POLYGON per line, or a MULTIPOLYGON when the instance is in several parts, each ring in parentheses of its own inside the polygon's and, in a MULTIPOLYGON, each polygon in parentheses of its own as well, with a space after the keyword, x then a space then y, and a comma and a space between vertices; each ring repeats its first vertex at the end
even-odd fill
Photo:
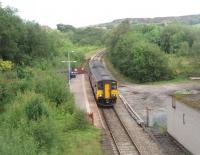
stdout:
POLYGON ((200 29, 179 23, 167 26, 130 25, 110 34, 109 59, 136 82, 200 75, 200 29))

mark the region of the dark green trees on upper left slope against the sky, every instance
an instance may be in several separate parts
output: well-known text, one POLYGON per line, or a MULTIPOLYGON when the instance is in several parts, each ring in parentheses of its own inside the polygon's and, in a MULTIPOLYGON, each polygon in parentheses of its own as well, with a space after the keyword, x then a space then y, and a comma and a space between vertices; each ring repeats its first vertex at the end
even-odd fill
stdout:
MULTIPOLYGON (((0 7, 0 59, 29 64, 32 58, 51 58, 64 46, 60 32, 24 22, 16 10, 0 7)), ((65 38, 67 40, 67 38, 65 38)))

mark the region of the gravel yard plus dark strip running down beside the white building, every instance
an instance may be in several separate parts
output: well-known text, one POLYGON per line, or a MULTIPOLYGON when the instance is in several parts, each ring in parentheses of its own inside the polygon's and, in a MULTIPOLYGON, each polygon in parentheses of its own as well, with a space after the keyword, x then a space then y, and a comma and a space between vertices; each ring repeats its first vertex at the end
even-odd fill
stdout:
POLYGON ((123 84, 120 85, 119 90, 145 123, 148 122, 150 127, 147 130, 154 135, 163 154, 190 154, 166 133, 167 104, 172 103, 170 95, 177 90, 200 90, 200 82, 161 85, 123 84), (147 117, 147 111, 149 117, 147 117))

